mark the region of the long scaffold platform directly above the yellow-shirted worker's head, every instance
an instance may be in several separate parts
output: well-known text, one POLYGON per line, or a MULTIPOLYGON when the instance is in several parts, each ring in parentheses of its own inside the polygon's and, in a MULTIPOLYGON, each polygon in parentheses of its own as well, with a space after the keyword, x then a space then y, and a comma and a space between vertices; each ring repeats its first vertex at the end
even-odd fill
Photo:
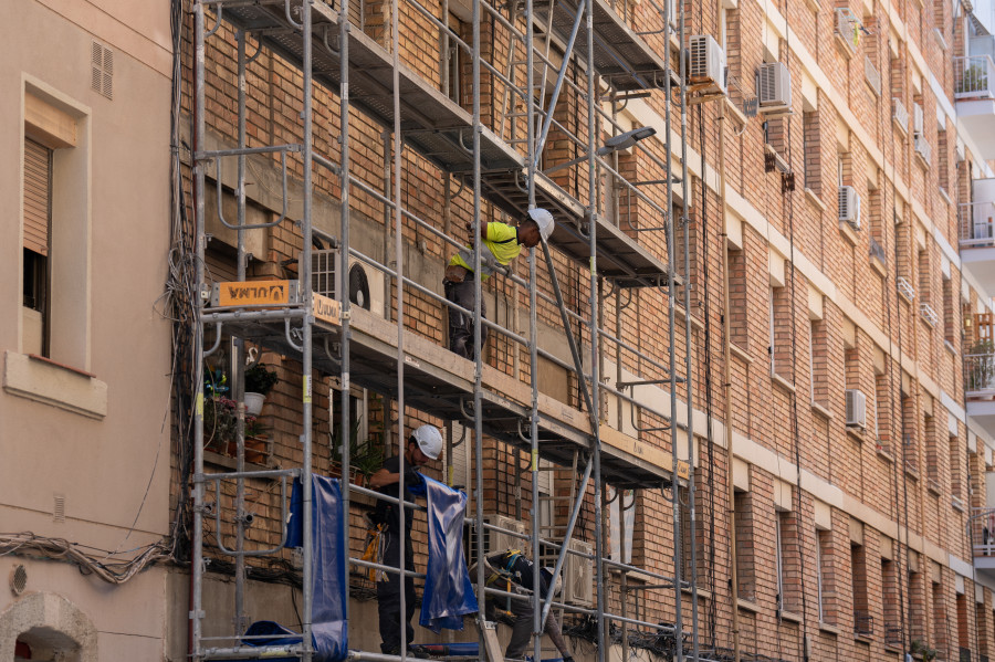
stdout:
MULTIPOLYGON (((329 35, 338 34, 338 15, 326 4, 313 6, 314 77, 332 92, 339 91, 338 51, 326 46, 329 35)), ((614 12, 612 12, 614 13, 614 12)), ((303 62, 300 33, 292 29, 279 4, 244 4, 228 8, 222 15, 240 29, 251 31, 262 43, 296 66, 303 62)), ((386 128, 394 127, 394 59, 359 30, 349 32, 349 103, 386 128)), ((452 99, 433 87, 404 63, 398 67, 401 130, 406 144, 447 172, 472 186, 473 118, 452 99)), ((516 219, 528 209, 525 160, 488 127, 481 127, 481 192, 516 219)), ((574 197, 548 177, 536 174, 536 204, 549 209, 556 218, 551 245, 572 260, 590 263, 586 210, 574 197)), ((598 219, 597 270, 621 286, 666 284, 667 265, 657 260, 620 229, 598 219)))

